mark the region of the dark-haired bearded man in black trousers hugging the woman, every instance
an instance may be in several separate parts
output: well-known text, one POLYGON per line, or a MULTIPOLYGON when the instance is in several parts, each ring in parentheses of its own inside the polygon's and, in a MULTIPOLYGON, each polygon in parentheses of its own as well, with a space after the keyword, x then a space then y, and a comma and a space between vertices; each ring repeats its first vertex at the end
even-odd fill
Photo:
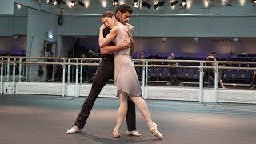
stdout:
MULTIPOLYGON (((130 14, 132 14, 132 9, 130 6, 120 5, 115 10, 116 18, 122 24, 132 27, 128 24, 130 14)), ((110 29, 104 29, 104 37, 110 33, 110 29)), ((132 40, 131 34, 130 38, 132 40)), ((81 129, 85 126, 87 118, 89 117, 90 111, 94 105, 96 98, 98 98, 98 94, 101 92, 102 88, 106 85, 106 82, 109 81, 110 78, 114 78, 114 52, 119 51, 126 47, 126 44, 123 46, 114 46, 113 42, 110 42, 110 46, 106 46, 101 48, 102 55, 102 62, 100 63, 98 70, 94 76, 94 81, 92 83, 92 87, 90 90, 90 94, 86 98, 82 106, 82 110, 80 114, 78 114, 78 118, 74 123, 74 126, 67 131, 68 134, 74 134, 81 131, 81 129)), ((131 51, 133 51, 133 40, 131 43, 131 51)), ((127 134, 133 136, 140 136, 141 134, 138 133, 136 130, 136 116, 135 116, 135 104, 131 100, 128 100, 128 111, 126 114, 126 122, 127 122, 127 134)))

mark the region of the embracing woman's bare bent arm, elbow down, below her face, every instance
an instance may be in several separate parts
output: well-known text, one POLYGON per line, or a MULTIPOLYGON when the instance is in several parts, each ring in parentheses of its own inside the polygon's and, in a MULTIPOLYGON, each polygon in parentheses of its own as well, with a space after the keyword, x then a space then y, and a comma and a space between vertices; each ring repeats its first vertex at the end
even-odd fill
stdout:
POLYGON ((110 34, 107 34, 106 37, 103 37, 103 30, 105 29, 105 26, 102 25, 101 28, 99 29, 99 35, 98 35, 98 44, 100 47, 107 46, 113 39, 114 37, 118 34, 118 27, 114 26, 110 30, 110 34))

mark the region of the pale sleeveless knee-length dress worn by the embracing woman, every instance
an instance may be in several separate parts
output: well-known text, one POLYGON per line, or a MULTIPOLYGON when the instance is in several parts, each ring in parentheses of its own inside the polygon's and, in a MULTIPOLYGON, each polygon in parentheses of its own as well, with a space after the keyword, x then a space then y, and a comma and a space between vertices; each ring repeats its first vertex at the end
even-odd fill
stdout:
MULTIPOLYGON (((119 33, 114 38, 116 45, 126 42, 129 38, 128 28, 122 24, 118 25, 119 33)), ((114 54, 114 85, 127 96, 142 97, 142 89, 133 62, 130 58, 130 48, 123 49, 114 54)))

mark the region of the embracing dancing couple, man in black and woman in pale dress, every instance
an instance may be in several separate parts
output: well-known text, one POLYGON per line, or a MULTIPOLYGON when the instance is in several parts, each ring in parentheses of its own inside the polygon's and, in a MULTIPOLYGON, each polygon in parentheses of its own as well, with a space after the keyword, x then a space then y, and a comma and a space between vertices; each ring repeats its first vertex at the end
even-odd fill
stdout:
POLYGON ((90 94, 83 104, 82 110, 78 115, 74 126, 68 130, 67 133, 72 134, 80 132, 85 125, 98 94, 103 86, 106 85, 106 82, 111 78, 112 74, 108 74, 106 77, 103 74, 111 72, 107 71, 111 66, 106 67, 106 64, 104 64, 107 63, 104 62, 104 60, 108 59, 110 61, 108 63, 111 63, 112 61, 112 64, 114 65, 112 66, 112 72, 114 71, 114 85, 118 88, 117 96, 120 99, 117 123, 112 133, 113 137, 120 137, 121 134, 119 131, 125 117, 128 125, 127 134, 134 136, 140 135, 136 130, 135 125, 135 104, 146 119, 147 126, 151 133, 158 139, 162 139, 162 134, 158 131, 158 126, 152 121, 148 106, 142 98, 141 86, 138 81, 134 64, 130 58, 130 53, 132 53, 134 46, 134 41, 130 32, 130 30, 133 29, 133 26, 127 22, 131 13, 132 10, 130 6, 120 5, 117 7, 115 14, 106 11, 106 13, 102 15, 103 25, 99 29, 98 38, 101 54, 103 54, 102 62, 95 74, 90 94), (106 34, 107 29, 110 29, 109 34, 106 34), (113 43, 112 46, 109 46, 111 42, 114 42, 114 46, 113 43), (110 60, 111 56, 112 58, 114 57, 114 61, 110 60))

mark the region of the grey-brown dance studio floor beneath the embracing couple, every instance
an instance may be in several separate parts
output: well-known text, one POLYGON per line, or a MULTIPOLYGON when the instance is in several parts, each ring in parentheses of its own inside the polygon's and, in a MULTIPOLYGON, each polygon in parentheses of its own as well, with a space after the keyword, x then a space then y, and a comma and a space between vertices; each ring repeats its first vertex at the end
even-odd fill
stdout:
POLYGON ((256 105, 147 100, 164 139, 158 141, 137 111, 141 137, 111 137, 118 99, 98 98, 80 134, 66 134, 85 98, 46 95, 0 95, 0 143, 168 143, 254 144, 256 105))

